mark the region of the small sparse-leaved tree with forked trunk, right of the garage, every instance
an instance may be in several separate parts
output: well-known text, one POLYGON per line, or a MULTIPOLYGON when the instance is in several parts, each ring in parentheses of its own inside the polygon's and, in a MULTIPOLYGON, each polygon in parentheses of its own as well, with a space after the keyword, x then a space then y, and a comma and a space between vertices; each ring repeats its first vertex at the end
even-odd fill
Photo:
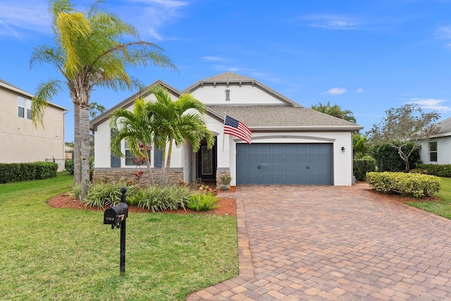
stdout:
POLYGON ((416 104, 404 104, 400 108, 388 109, 379 124, 373 125, 369 131, 369 138, 373 145, 386 143, 397 149, 402 161, 406 163, 406 170, 410 170, 409 157, 418 149, 421 142, 428 140, 431 135, 438 133, 435 122, 440 114, 433 111, 425 113, 416 104), (405 146, 412 145, 408 152, 405 146))

